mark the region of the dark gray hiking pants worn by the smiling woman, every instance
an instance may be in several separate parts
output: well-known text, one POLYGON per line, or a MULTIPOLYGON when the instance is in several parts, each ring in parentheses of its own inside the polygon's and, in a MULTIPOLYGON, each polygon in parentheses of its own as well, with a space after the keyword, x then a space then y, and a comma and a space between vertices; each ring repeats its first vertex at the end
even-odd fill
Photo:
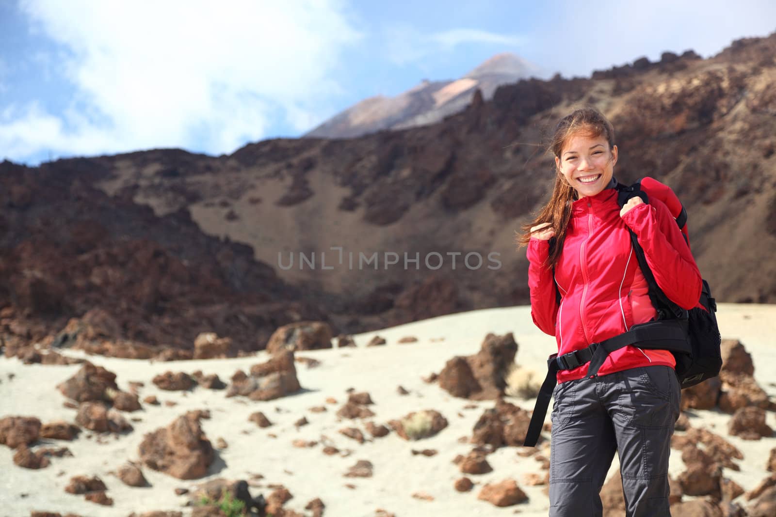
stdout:
POLYGON ((674 370, 648 366, 558 384, 553 396, 549 515, 603 514, 615 450, 628 517, 669 517, 668 457, 679 418, 674 370))

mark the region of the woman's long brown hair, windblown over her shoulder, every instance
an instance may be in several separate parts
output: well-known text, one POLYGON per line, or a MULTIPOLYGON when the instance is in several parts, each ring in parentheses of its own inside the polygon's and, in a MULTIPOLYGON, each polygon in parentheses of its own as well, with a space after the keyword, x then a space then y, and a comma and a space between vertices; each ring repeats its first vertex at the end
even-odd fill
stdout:
MULTIPOLYGON (((585 106, 584 108, 575 109, 569 115, 560 119, 560 122, 555 127, 553 139, 549 141, 547 146, 547 152, 553 153, 554 157, 559 158, 566 142, 572 136, 580 134, 590 136, 591 138, 598 138, 601 135, 605 136, 609 144, 610 153, 615 146, 615 129, 611 126, 611 122, 598 109, 592 106, 585 106)), ((553 164, 555 164, 555 160, 553 160, 553 164)), ((532 222, 522 226, 523 233, 516 233, 518 247, 528 246, 528 241, 531 240, 532 226, 549 222, 550 226, 555 230, 556 245, 553 246, 553 250, 549 254, 545 265, 546 267, 554 267, 560 257, 560 252, 563 250, 563 241, 566 240, 566 229, 569 226, 569 219, 571 219, 571 203, 575 199, 577 199, 577 191, 566 181, 566 178, 563 177, 563 174, 555 165, 553 195, 549 198, 549 202, 539 210, 539 215, 536 215, 532 222)))

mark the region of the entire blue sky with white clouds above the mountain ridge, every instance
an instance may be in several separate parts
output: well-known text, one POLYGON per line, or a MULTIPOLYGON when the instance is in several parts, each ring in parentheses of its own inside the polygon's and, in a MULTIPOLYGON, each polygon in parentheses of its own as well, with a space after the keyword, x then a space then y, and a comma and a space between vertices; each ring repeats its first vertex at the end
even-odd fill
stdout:
POLYGON ((586 76, 776 30, 770 0, 539 4, 0 0, 0 159, 231 153, 495 53, 586 76))

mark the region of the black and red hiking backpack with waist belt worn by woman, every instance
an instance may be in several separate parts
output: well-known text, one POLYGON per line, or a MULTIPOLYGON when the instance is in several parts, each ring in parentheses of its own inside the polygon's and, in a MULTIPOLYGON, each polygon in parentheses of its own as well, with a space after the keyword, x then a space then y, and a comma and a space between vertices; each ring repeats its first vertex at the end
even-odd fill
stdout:
MULTIPOLYGON (((671 215, 674 215, 677 226, 684 236, 684 241, 690 246, 687 211, 670 187, 653 178, 643 178, 629 186, 615 184, 615 188, 618 191, 617 203, 620 208, 630 198, 636 196, 642 198, 643 202, 647 204, 650 202, 650 197, 663 202, 671 215)), ((563 356, 553 353, 547 360, 547 377, 545 377, 539 395, 536 397, 536 405, 528 425, 524 446, 535 446, 536 440, 539 439, 549 399, 552 397, 553 388, 557 384, 557 372, 573 370, 590 361, 587 374, 588 377, 594 377, 598 374, 598 369, 604 364, 608 354, 623 346, 638 343, 639 348, 643 349, 670 350, 676 359, 674 369, 682 389, 719 375, 722 368, 720 349, 722 339, 719 335, 719 326, 717 326, 715 315, 717 305, 715 299, 712 298, 708 282, 702 280, 701 296, 694 308, 688 311, 679 307, 671 302, 657 285, 650 266, 646 263, 644 250, 639 245, 636 233, 633 233, 631 229, 629 229, 629 233, 639 267, 641 267, 642 274, 649 286, 650 302, 657 311, 657 319, 634 325, 628 332, 605 339, 601 343, 593 343, 582 350, 574 350, 563 354, 563 356)), ((550 246, 554 246, 554 238, 550 240, 550 246)), ((557 286, 556 298, 560 298, 557 286)))

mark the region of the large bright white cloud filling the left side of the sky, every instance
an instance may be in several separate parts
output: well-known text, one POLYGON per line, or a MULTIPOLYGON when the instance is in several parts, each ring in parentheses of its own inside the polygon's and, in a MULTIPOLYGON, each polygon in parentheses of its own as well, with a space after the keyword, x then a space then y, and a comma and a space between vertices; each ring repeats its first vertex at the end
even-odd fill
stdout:
POLYGON ((0 147, 22 160, 35 150, 230 153, 278 118, 308 129, 341 91, 341 50, 362 37, 339 0, 21 5, 33 30, 68 50, 77 91, 61 116, 31 105, 3 117, 0 147))

